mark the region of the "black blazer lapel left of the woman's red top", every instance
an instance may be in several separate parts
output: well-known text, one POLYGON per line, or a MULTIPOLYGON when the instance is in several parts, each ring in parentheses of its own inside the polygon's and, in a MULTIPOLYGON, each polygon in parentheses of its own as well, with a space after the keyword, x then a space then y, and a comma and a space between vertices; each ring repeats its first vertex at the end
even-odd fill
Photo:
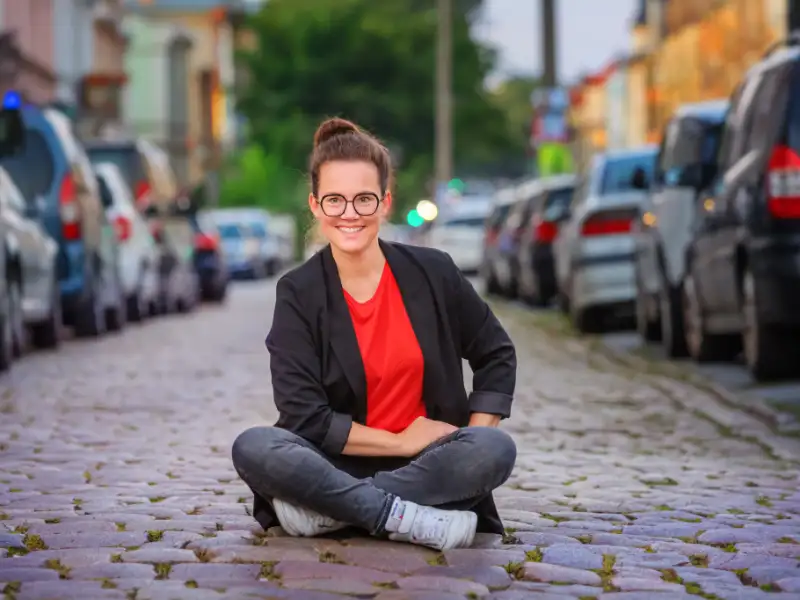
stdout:
POLYGON ((364 363, 361 360, 353 320, 347 308, 342 280, 339 278, 339 270, 336 268, 330 246, 323 249, 321 255, 325 271, 331 348, 339 359, 347 382, 355 395, 357 402, 355 414, 363 423, 367 416, 367 378, 364 374, 364 363))

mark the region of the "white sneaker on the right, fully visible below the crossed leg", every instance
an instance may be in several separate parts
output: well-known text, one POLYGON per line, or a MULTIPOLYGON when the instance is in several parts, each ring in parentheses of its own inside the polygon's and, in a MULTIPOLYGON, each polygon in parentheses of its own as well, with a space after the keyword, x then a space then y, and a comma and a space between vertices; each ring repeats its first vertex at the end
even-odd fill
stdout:
POLYGON ((468 548, 475 539, 478 516, 469 511, 442 510, 395 500, 386 523, 389 539, 436 550, 468 548))

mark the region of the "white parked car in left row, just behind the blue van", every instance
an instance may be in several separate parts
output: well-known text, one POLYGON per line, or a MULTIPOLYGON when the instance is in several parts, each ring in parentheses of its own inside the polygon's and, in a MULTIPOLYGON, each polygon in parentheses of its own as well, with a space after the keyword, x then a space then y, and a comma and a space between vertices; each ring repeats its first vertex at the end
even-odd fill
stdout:
POLYGON ((94 169, 106 215, 117 233, 119 276, 128 319, 140 321, 158 302, 158 248, 147 221, 135 208, 133 192, 119 167, 100 163, 94 169))

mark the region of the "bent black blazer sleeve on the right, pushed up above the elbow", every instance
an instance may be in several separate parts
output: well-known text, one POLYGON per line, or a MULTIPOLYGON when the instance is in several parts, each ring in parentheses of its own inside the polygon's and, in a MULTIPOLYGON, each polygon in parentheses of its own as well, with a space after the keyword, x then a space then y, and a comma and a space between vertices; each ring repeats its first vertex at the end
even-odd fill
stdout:
POLYGON ((517 384, 514 343, 453 260, 449 262, 451 290, 458 311, 461 356, 467 359, 473 372, 469 410, 508 418, 517 384))

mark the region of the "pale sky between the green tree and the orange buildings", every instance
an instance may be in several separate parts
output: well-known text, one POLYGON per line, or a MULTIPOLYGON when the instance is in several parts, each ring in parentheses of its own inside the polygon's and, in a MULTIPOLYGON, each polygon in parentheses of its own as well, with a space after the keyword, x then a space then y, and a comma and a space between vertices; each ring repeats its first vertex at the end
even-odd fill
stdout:
MULTIPOLYGON (((476 35, 500 53, 492 80, 541 69, 540 0, 484 0, 476 35)), ((570 83, 630 50, 636 0, 556 0, 558 74, 570 83), (591 40, 589 42, 588 40, 591 40)), ((491 85, 491 83, 490 83, 491 85)))

